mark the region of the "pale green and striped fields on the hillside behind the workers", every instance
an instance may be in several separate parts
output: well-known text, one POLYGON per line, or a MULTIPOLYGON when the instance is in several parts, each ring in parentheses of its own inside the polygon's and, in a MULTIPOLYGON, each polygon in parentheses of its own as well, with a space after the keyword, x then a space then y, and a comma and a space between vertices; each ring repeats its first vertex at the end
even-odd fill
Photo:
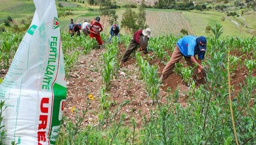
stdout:
MULTIPOLYGON (((32 0, 0 0, 0 29, 24 31, 27 29, 31 18, 34 14, 34 4, 32 0), (14 19, 10 22, 11 26, 5 26, 4 21, 7 21, 7 17, 10 16, 14 19), (2 24, 1 24, 2 23, 2 24)), ((199 0, 199 3, 207 4, 207 1, 199 0)), ((83 3, 74 3, 72 1, 56 1, 57 4, 61 4, 61 8, 58 8, 59 20, 61 30, 66 31, 68 29, 68 23, 70 18, 73 18, 75 22, 83 23, 85 19, 92 20, 99 14, 98 6, 90 6, 87 1, 83 3)), ((146 4, 153 4, 154 0, 146 0, 146 4)), ((117 9, 118 19, 120 24, 122 15, 125 11, 124 5, 127 4, 139 4, 138 0, 117 0, 117 4, 121 6, 117 9)), ((214 6, 218 3, 209 3, 207 6, 214 6)), ((228 4, 233 4, 230 1, 228 4)), ((138 8, 133 8, 134 11, 138 11, 138 8)), ((107 19, 102 21, 104 26, 104 32, 108 33, 110 25, 107 19)), ((227 16, 225 13, 209 10, 209 11, 177 11, 177 10, 165 10, 147 8, 147 25, 151 27, 153 36, 159 36, 161 34, 174 34, 181 35, 181 29, 188 30, 189 34, 193 35, 211 35, 206 33, 207 26, 215 26, 217 23, 221 23, 225 28, 223 36, 253 36, 256 30, 256 13, 251 12, 241 17, 227 16), (178 18, 178 19, 177 19, 178 18), (200 19, 199 19, 200 18, 200 19), (222 21, 225 18, 225 21, 222 21)), ((121 29, 121 33, 124 34, 124 29, 121 29)))

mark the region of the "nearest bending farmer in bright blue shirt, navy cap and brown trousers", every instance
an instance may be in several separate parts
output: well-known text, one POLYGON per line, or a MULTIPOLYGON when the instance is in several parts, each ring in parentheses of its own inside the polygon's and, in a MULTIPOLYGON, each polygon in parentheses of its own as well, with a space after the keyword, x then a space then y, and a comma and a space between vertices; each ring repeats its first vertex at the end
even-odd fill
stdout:
POLYGON ((185 58, 188 65, 192 67, 198 65, 198 69, 194 71, 195 74, 202 73, 202 71, 203 74, 205 74, 201 62, 206 51, 206 43, 207 40, 204 36, 184 36, 178 40, 170 61, 162 71, 160 80, 165 80, 173 72, 175 64, 179 62, 182 57, 185 58), (198 58, 196 58, 196 55, 198 58))

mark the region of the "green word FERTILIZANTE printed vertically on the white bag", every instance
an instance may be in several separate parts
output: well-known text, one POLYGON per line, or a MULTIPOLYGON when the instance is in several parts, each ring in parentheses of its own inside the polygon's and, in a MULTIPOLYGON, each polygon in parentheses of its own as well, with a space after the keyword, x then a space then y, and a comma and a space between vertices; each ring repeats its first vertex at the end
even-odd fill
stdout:
POLYGON ((42 89, 49 90, 50 82, 53 80, 54 71, 56 69, 56 58, 57 58, 57 40, 58 37, 51 36, 52 41, 50 42, 49 58, 43 78, 42 89))

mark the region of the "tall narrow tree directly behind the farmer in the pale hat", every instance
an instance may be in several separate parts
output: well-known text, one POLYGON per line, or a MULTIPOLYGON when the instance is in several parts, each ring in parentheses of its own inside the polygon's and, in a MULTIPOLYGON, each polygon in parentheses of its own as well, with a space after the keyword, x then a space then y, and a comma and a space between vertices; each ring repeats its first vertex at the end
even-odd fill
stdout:
POLYGON ((137 17, 137 24, 139 29, 144 29, 146 27, 146 4, 145 0, 141 0, 141 5, 139 6, 139 14, 137 17))

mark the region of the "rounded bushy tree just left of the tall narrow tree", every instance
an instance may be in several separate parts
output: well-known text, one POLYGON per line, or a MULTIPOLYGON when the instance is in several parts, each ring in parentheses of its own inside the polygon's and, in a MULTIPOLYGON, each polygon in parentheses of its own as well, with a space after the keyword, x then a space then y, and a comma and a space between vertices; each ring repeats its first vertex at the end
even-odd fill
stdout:
POLYGON ((136 20, 136 12, 132 11, 132 8, 127 8, 122 16, 121 27, 124 28, 127 33, 134 33, 139 29, 136 20))

